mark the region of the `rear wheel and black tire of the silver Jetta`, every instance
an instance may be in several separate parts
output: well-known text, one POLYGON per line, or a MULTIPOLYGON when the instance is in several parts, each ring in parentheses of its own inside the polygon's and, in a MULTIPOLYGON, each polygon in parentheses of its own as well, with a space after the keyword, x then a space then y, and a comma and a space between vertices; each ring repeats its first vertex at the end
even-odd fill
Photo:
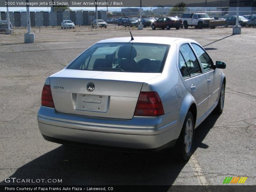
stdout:
POLYGON ((188 111, 185 117, 184 123, 182 125, 180 136, 174 146, 174 151, 178 155, 177 157, 179 159, 188 161, 189 158, 191 157, 193 153, 193 146, 194 146, 194 135, 195 135, 194 132, 195 132, 194 116, 190 111, 188 111))

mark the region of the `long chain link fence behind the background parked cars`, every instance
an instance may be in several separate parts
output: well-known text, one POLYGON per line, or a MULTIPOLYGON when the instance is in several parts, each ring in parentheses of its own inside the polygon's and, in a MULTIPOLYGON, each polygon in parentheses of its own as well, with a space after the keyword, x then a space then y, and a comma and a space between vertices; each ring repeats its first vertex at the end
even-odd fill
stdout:
MULTIPOLYGON (((163 16, 177 16, 181 17, 183 13, 190 12, 150 12, 143 11, 142 18, 160 18, 163 16)), ((223 16, 236 15, 236 12, 195 12, 195 13, 207 13, 210 17, 219 18, 223 16)), ((256 14, 256 11, 240 11, 239 15, 251 15, 256 14)), ((13 28, 26 28, 27 16, 26 12, 9 12, 10 21, 13 28)), ((123 17, 123 12, 111 12, 107 14, 107 11, 98 11, 98 19, 107 21, 108 19, 118 19, 123 17)), ((140 18, 140 12, 125 12, 125 16, 130 18, 140 18)), ((6 12, 1 12, 1 19, 6 20, 6 12)), ((94 11, 70 11, 70 12, 30 12, 31 27, 59 27, 62 20, 72 20, 76 26, 91 26, 92 21, 96 19, 94 11)), ((115 25, 115 23, 114 23, 115 25)), ((255 25, 254 25, 255 26, 255 25)))

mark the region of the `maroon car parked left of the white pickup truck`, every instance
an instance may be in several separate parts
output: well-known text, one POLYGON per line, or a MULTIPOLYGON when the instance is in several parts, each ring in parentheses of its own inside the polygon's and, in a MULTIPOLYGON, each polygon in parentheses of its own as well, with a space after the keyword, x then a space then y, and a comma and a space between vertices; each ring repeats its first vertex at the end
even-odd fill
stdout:
POLYGON ((176 17, 161 17, 152 24, 152 29, 162 28, 170 30, 170 28, 180 29, 182 27, 182 20, 176 17))

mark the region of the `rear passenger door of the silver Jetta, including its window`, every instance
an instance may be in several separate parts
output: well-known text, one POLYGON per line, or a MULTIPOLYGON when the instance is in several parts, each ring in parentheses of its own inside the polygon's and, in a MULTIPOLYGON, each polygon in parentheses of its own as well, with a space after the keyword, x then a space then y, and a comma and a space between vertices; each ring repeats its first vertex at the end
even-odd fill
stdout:
POLYGON ((205 117, 208 101, 208 85, 196 55, 188 43, 180 46, 179 68, 186 89, 196 100, 196 123, 198 123, 205 117))

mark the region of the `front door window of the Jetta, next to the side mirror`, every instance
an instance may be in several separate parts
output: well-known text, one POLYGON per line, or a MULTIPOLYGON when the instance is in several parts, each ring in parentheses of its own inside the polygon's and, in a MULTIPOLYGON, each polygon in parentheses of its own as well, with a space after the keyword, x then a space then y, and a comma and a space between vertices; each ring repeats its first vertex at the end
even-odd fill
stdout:
POLYGON ((202 65, 203 65, 204 72, 213 69, 212 60, 207 55, 207 53, 197 44, 192 43, 192 46, 194 47, 196 54, 198 55, 202 65))

